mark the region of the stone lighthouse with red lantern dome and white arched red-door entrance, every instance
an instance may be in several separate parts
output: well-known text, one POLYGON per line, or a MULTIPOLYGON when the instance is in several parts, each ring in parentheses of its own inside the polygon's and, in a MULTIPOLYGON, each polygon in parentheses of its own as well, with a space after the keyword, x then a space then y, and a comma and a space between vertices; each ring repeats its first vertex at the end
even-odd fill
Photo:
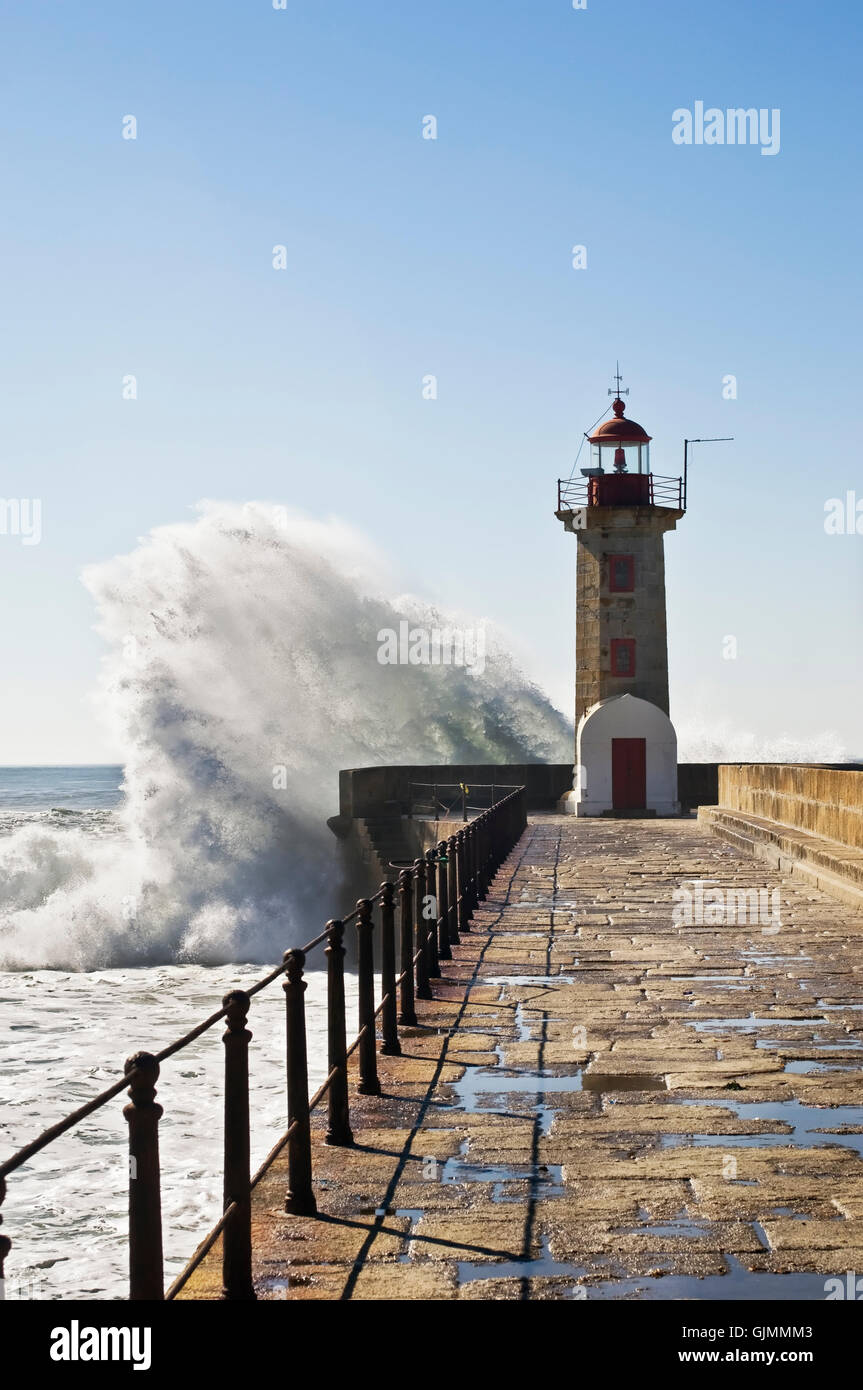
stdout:
POLYGON ((557 484, 556 516, 578 545, 575 778, 564 808, 671 816, 664 534, 684 516, 685 484, 650 471, 650 435, 627 420, 616 381, 613 418, 588 435, 591 467, 557 484))

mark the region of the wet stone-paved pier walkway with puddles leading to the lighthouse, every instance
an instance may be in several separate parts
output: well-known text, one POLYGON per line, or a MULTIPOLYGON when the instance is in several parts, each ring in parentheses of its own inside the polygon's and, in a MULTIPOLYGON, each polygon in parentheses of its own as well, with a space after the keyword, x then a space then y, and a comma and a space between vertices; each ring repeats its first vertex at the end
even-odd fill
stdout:
MULTIPOLYGON (((260 1298, 824 1298, 863 1273, 863 915, 692 820, 546 816, 454 955, 384 1097, 352 1084, 356 1147, 314 1119, 318 1216, 285 1215, 283 1159, 256 1188, 260 1298), (684 880, 710 881, 687 903, 684 880)), ((181 1297, 218 1297, 218 1262, 181 1297)))

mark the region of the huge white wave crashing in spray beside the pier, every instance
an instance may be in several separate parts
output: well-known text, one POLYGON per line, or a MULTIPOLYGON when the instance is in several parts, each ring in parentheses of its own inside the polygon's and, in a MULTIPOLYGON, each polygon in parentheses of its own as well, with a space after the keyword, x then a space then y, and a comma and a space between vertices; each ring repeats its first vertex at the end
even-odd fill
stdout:
POLYGON ((493 637, 482 671, 379 663, 381 630, 459 616, 388 598, 339 521, 206 503, 83 581, 122 835, 0 841, 7 969, 278 959, 339 906, 339 767, 571 759, 566 719, 493 637))

